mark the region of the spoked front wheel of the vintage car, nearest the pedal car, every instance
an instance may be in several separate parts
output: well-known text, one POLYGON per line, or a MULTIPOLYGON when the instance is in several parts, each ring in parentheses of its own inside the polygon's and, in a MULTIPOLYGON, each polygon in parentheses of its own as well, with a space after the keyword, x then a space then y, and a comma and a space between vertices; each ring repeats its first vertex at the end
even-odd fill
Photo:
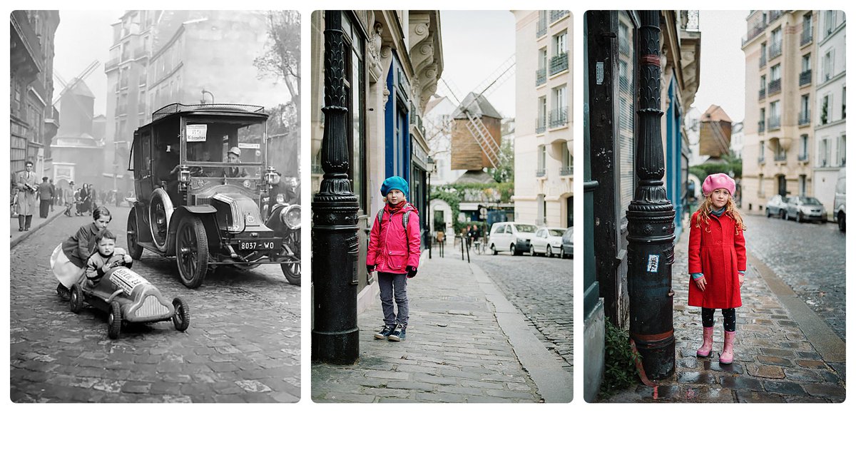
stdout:
POLYGON ((186 287, 199 287, 208 272, 208 237, 205 225, 195 216, 186 216, 178 224, 175 238, 175 262, 186 287))

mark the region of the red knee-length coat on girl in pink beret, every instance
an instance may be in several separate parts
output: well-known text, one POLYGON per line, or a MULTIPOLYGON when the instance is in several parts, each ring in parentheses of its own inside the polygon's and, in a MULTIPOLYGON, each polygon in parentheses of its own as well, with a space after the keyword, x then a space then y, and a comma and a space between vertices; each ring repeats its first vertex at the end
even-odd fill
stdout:
POLYGON ((689 271, 704 274, 704 292, 690 278, 690 306, 737 308, 740 302, 738 270, 746 270, 746 239, 734 218, 710 216, 710 224, 696 227, 698 212, 690 220, 689 271))

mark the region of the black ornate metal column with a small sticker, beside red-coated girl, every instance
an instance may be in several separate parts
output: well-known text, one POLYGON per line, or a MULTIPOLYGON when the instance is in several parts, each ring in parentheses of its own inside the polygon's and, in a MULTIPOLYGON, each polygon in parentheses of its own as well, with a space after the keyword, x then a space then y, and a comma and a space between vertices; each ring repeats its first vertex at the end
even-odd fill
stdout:
POLYGON ((627 208, 627 293, 630 337, 642 356, 645 373, 651 379, 663 379, 675 373, 672 322, 675 210, 663 186, 660 12, 640 11, 640 17, 636 142, 639 185, 627 208))

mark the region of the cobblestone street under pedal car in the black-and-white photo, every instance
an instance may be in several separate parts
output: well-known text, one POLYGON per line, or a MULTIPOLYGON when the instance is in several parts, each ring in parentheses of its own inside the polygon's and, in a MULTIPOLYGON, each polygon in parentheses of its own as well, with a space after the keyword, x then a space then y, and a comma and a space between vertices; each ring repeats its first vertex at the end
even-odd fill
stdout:
MULTIPOLYGON (((110 207, 125 247, 128 208, 110 207)), ((91 218, 60 216, 11 251, 10 382, 14 402, 295 402, 300 399, 300 287, 278 266, 220 268, 187 289, 175 258, 144 252, 134 270, 180 296, 190 328, 128 325, 107 337, 106 315, 75 315, 56 296, 51 251, 91 218)))

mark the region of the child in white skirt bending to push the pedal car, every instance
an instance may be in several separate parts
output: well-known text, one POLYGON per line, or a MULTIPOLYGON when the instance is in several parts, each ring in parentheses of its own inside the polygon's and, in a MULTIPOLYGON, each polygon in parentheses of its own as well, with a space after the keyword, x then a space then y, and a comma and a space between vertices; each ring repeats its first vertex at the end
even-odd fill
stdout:
POLYGON ((63 300, 70 297, 70 287, 80 281, 86 270, 86 260, 95 250, 95 237, 107 228, 113 219, 106 207, 97 207, 92 212, 92 222, 85 224, 74 235, 57 245, 51 254, 51 270, 59 284, 56 293, 63 300))

